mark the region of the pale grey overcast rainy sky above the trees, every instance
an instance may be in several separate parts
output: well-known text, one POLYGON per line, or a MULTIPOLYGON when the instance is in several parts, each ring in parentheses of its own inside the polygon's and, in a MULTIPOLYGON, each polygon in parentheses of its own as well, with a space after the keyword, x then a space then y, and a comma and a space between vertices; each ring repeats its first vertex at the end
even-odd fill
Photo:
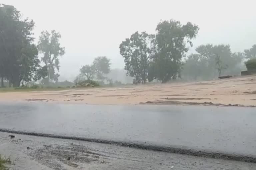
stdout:
MULTIPOLYGON (((105 55, 112 68, 123 68, 119 44, 136 31, 154 33, 160 20, 192 22, 200 28, 194 47, 230 44, 233 52, 256 44, 254 0, 1 0, 15 6, 43 30, 62 35, 66 54, 60 60, 60 79, 73 80, 82 65, 105 55)), ((193 50, 193 49, 192 49, 193 50)))

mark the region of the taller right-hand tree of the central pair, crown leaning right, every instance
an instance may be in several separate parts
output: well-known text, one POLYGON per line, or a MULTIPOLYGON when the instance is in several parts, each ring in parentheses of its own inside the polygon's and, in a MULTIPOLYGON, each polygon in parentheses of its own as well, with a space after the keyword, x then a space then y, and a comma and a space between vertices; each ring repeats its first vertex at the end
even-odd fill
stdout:
POLYGON ((189 50, 187 44, 193 45, 191 40, 196 37, 198 30, 198 26, 190 22, 186 25, 175 20, 160 22, 156 28, 155 51, 151 64, 151 70, 154 71, 150 77, 163 83, 180 77, 181 60, 189 50))

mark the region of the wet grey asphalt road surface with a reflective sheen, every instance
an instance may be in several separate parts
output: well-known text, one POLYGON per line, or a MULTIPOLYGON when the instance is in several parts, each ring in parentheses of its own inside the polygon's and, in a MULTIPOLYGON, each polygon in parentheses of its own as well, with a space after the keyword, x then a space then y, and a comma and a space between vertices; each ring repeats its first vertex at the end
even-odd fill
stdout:
POLYGON ((0 128, 256 156, 256 109, 0 104, 0 128))

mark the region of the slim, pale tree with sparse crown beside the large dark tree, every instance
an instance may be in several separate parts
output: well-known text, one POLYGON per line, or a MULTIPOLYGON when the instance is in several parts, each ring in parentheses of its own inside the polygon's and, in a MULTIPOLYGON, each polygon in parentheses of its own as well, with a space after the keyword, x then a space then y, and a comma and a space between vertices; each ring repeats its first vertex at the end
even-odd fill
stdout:
POLYGON ((46 82, 49 84, 50 80, 58 81, 59 74, 59 57, 65 54, 65 47, 61 47, 59 40, 61 35, 59 32, 52 30, 51 33, 48 31, 42 31, 39 37, 38 50, 44 56, 41 60, 47 66, 47 78, 46 82))

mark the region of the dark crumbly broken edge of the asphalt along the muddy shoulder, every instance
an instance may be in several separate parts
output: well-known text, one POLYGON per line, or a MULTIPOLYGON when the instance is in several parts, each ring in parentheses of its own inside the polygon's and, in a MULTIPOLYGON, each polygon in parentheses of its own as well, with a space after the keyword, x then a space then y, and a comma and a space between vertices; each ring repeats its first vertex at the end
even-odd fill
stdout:
POLYGON ((254 155, 243 155, 243 154, 236 154, 236 153, 199 150, 199 149, 188 148, 185 146, 178 147, 178 146, 152 145, 152 144, 141 143, 141 142, 124 142, 124 141, 86 138, 86 137, 77 137, 77 136, 54 135, 54 134, 19 131, 19 130, 5 129, 5 128, 0 128, 0 131, 14 133, 14 134, 23 134, 23 135, 32 135, 32 136, 41 136, 41 137, 50 137, 50 138, 59 138, 59 139, 72 139, 72 140, 105 143, 105 144, 112 144, 112 145, 114 144, 118 146, 132 147, 132 148, 152 150, 152 151, 161 151, 161 152, 177 153, 177 154, 184 154, 184 155, 191 155, 191 156, 200 156, 200 157, 207 157, 207 158, 217 158, 217 159, 256 163, 256 156, 254 155))

